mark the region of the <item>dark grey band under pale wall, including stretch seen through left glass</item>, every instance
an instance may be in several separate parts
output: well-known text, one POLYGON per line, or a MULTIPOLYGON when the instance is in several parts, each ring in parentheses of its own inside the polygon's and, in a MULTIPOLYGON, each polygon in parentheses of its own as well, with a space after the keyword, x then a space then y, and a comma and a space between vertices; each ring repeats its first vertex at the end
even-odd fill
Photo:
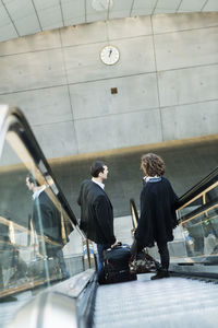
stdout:
MULTIPOLYGON (((192 142, 161 143, 154 147, 138 147, 134 150, 104 152, 100 159, 109 167, 105 181, 106 192, 112 206, 114 218, 130 215, 130 199, 134 198, 140 209, 143 172, 140 169, 141 156, 155 152, 166 162, 166 177, 170 179, 179 197, 207 176, 218 163, 218 134, 214 138, 194 139, 192 142)), ((77 204, 82 180, 90 178, 89 167, 97 155, 72 156, 68 161, 58 159, 50 161, 53 175, 63 191, 74 214, 78 219, 81 209, 77 204)), ((0 169, 0 214, 13 218, 16 223, 27 226, 32 214, 32 192, 26 188, 27 168, 24 165, 0 169)), ((124 219, 123 219, 124 220, 124 219)), ((126 219, 129 220, 129 219, 126 219)), ((122 221, 123 222, 123 221, 122 221)), ((128 221, 129 222, 129 221, 128 221)), ((126 222, 126 229, 129 223, 126 222)), ((130 231, 130 230, 129 230, 130 231)))

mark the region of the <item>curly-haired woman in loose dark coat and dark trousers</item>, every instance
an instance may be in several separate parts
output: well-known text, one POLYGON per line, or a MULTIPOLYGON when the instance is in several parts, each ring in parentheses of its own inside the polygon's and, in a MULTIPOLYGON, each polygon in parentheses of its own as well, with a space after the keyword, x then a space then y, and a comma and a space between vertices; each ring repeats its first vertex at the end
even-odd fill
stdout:
POLYGON ((137 250, 153 247, 155 242, 160 254, 161 267, 152 280, 169 277, 169 250, 167 243, 173 241, 172 230, 178 225, 175 203, 178 197, 169 180, 164 177, 165 163, 156 154, 142 156, 141 168, 145 173, 141 192, 141 216, 135 232, 137 250))

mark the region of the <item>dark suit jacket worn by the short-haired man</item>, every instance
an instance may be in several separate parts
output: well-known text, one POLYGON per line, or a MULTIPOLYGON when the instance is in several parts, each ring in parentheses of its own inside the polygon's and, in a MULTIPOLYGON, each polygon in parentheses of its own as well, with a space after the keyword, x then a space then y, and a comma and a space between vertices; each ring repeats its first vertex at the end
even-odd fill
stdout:
POLYGON ((84 180, 77 203, 81 206, 80 227, 87 238, 96 244, 114 244, 112 204, 105 190, 92 180, 84 180))

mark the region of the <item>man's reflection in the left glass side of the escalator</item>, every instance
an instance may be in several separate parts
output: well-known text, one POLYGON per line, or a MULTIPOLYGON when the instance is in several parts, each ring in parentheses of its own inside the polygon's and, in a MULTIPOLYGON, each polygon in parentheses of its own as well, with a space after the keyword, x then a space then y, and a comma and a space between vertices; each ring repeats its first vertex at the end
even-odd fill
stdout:
POLYGON ((47 195, 46 186, 40 186, 32 174, 26 176, 26 186, 33 192, 33 226, 39 236, 49 242, 39 243, 39 251, 47 257, 57 258, 62 271, 62 278, 70 277, 63 259, 63 238, 61 234, 61 214, 47 195))

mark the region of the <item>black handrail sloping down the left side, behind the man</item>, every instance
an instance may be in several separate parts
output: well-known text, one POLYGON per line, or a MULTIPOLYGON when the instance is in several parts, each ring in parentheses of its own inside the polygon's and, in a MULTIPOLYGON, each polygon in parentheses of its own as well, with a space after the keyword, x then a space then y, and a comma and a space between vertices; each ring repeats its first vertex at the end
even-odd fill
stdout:
POLYGON ((81 235, 84 236, 84 234, 78 229, 77 220, 76 220, 70 204, 68 203, 60 186, 58 185, 58 183, 53 176, 53 173, 52 173, 35 136, 34 136, 25 116, 23 115, 21 109, 16 108, 16 107, 9 107, 8 105, 0 105, 0 156, 1 156, 2 149, 3 149, 3 143, 5 140, 7 132, 8 132, 8 130, 13 129, 13 126, 15 126, 15 125, 16 125, 16 132, 19 133, 19 136, 22 139, 22 141, 24 142, 25 147, 27 148, 27 150, 34 157, 34 161, 37 164, 43 162, 43 165, 46 168, 46 174, 48 174, 52 178, 55 186, 58 189, 56 197, 59 199, 61 206, 68 213, 68 215, 69 215, 70 220, 72 221, 72 223, 74 224, 74 226, 76 226, 76 229, 78 230, 81 235), (19 125, 19 128, 17 128, 17 125, 19 125))

